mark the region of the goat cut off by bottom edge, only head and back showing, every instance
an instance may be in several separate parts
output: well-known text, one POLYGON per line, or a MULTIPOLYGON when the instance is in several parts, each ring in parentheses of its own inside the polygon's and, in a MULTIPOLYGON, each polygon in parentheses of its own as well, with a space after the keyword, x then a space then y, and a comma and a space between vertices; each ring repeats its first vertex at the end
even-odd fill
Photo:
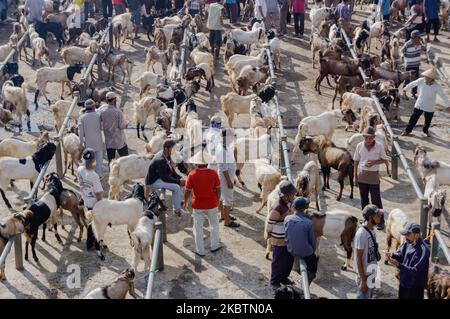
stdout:
POLYGON ((134 269, 126 269, 112 283, 92 290, 83 299, 125 299, 128 292, 133 298, 137 298, 134 292, 135 277, 136 272, 134 269))

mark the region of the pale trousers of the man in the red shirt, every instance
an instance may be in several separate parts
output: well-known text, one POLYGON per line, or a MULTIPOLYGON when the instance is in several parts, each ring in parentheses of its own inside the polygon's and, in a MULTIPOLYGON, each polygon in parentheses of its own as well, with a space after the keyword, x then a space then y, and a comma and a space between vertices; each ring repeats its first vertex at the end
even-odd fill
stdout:
POLYGON ((198 254, 205 254, 205 246, 203 242, 203 223, 205 217, 208 219, 210 233, 210 250, 220 247, 219 244, 219 213, 216 208, 212 209, 193 209, 192 217, 194 218, 194 241, 195 250, 198 254))

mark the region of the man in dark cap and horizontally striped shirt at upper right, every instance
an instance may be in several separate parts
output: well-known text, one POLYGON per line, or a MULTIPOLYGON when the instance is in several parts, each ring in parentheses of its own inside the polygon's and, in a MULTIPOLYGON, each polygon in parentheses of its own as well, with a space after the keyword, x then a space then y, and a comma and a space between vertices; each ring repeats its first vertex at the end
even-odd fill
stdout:
MULTIPOLYGON (((421 55, 422 52, 425 51, 426 47, 423 44, 422 39, 420 38, 420 31, 414 30, 413 32, 411 32, 411 39, 407 41, 400 50, 405 60, 405 70, 414 71, 415 72, 414 78, 417 78, 419 76, 420 60, 422 59, 421 55)), ((406 86, 409 82, 410 82, 409 80, 406 80, 404 85, 406 86)), ((407 90, 403 88, 403 95, 407 99, 406 91, 407 90)), ((412 94, 415 98, 417 94, 416 88, 413 88, 412 94)))

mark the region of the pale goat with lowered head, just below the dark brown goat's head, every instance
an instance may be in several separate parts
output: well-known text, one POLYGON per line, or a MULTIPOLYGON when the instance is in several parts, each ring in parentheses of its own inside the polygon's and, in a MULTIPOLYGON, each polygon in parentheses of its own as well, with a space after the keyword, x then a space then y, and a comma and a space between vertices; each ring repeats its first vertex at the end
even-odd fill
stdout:
POLYGON ((319 168, 315 161, 309 161, 305 164, 303 169, 297 172, 295 178, 295 187, 297 188, 297 195, 310 198, 314 190, 316 199, 316 208, 319 211, 319 168))

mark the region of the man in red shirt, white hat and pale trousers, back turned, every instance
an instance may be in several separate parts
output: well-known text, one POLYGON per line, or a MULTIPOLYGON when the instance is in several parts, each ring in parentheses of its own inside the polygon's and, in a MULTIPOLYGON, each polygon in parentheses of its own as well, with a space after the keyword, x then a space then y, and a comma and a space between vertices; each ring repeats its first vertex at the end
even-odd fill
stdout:
POLYGON ((205 217, 208 218, 211 227, 211 252, 216 252, 222 248, 219 243, 219 215, 217 210, 220 198, 220 180, 215 170, 207 168, 208 164, 212 162, 208 152, 197 152, 190 162, 197 165, 197 168, 189 173, 186 180, 184 209, 187 209, 188 200, 192 193, 195 253, 204 257, 203 222, 205 217))

